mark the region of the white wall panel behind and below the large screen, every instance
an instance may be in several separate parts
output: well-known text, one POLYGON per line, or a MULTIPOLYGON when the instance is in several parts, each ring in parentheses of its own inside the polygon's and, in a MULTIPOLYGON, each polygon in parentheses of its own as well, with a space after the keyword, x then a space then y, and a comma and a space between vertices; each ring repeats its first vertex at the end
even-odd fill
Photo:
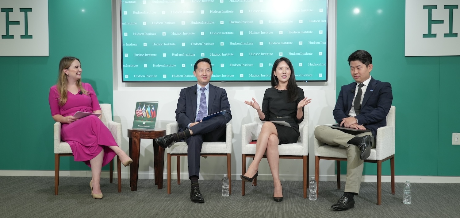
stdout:
MULTIPOLYGON (((318 124, 333 123, 332 110, 336 100, 336 2, 329 0, 328 12, 328 82, 298 82, 300 88, 304 89, 305 96, 312 99, 308 105, 309 116, 309 172, 314 175, 315 154, 313 147, 313 130, 318 124)), ((121 38, 120 38, 120 0, 113 0, 113 81, 114 81, 114 121, 120 122, 123 127, 123 140, 121 148, 128 152, 129 140, 127 129, 132 127, 134 118, 134 107, 136 101, 158 101, 156 128, 166 129, 166 124, 175 122, 175 110, 181 88, 189 87, 194 82, 151 82, 151 83, 123 83, 121 82, 121 38)), ((212 61, 212 59, 211 59, 212 61)), ((275 61, 275 60, 272 60, 275 61)), ((294 67, 295 69, 295 67, 294 67)), ((219 71, 219 68, 214 69, 219 71)), ((190 67, 190 74, 193 68, 190 67)), ((242 172, 241 155, 241 125, 251 123, 254 119, 254 109, 244 104, 244 100, 254 97, 259 102, 270 82, 212 82, 213 85, 225 88, 230 101, 233 125, 233 150, 231 158, 231 172, 233 179, 240 179, 242 172)), ((176 178, 176 160, 172 160, 173 178, 176 178)), ((247 165, 251 159, 247 159, 247 165)), ((186 157, 181 159, 181 177, 188 178, 186 157)), ((166 174, 166 153, 165 169, 166 174)), ((226 172, 226 160, 220 157, 201 158, 200 179, 220 179, 226 172)), ((320 180, 334 181, 334 161, 324 161, 320 168, 320 180)), ((128 178, 128 168, 122 169, 122 177, 128 178)), ((166 178, 166 175, 164 175, 166 178)), ((280 177, 282 180, 302 180, 302 160, 281 159, 280 177)), ((141 140, 139 178, 153 179, 153 141, 141 140)), ((259 178, 271 180, 270 168, 266 159, 261 161, 259 166, 259 178)))

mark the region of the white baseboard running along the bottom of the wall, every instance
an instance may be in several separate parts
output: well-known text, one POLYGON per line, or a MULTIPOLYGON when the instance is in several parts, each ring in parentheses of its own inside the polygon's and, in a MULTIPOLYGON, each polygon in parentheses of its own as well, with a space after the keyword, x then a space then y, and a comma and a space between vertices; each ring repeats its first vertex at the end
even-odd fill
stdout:
MULTIPOLYGON (((91 171, 60 171, 60 177, 92 177, 91 171)), ((0 171, 0 176, 27 176, 27 177, 54 177, 54 171, 0 171)), ((223 174, 200 174, 201 180, 220 180, 223 174)), ((109 172, 103 171, 101 173, 102 178, 109 178, 109 172)), ((117 177, 114 172, 114 179, 117 177)), ((188 180, 189 175, 187 173, 181 173, 181 180, 188 180)), ((310 175, 307 180, 311 180, 310 175)), ((129 173, 121 173, 121 178, 129 178, 129 173)), ((139 173, 139 179, 154 179, 154 173, 139 173)), ((177 179, 177 174, 171 175, 172 179, 177 179)), ((241 180, 240 175, 232 174, 233 180, 241 180)), ((273 180, 271 174, 259 174, 259 180, 273 180)), ((302 181, 302 175, 280 175, 282 181, 302 181)), ((163 180, 166 182, 167 173, 163 174, 163 180)), ((442 176, 395 176, 396 183, 405 183, 409 180, 411 183, 460 183, 460 177, 442 177, 442 176)), ((319 181, 334 182, 337 181, 335 175, 320 175, 319 181)), ((340 181, 346 181, 346 175, 340 175, 340 181)), ((376 175, 363 175, 362 182, 377 182, 376 175)), ((382 183, 390 183, 391 177, 389 175, 382 175, 382 183)))

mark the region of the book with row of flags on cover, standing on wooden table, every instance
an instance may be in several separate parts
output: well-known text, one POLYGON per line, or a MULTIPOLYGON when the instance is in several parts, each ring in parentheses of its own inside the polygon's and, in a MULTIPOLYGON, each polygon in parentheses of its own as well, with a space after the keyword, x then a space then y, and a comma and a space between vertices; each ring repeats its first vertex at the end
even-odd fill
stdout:
POLYGON ((158 101, 136 102, 132 129, 155 130, 156 110, 158 110, 158 101))

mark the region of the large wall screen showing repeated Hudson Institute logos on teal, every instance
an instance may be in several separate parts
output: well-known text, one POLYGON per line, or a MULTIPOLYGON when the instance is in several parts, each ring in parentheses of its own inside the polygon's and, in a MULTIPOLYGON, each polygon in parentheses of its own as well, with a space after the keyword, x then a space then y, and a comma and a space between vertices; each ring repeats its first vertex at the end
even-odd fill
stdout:
POLYGON ((276 59, 297 81, 327 81, 327 0, 121 0, 123 82, 270 81, 276 59))

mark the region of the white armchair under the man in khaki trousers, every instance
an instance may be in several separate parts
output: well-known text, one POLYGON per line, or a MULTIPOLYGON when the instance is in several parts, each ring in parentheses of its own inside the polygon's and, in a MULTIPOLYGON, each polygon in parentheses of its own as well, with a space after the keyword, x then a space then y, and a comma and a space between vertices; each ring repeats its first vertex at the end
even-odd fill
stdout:
MULTIPOLYGON (((376 147, 364 162, 377 163, 377 205, 381 205, 382 162, 390 159, 391 194, 395 194, 395 120, 396 107, 391 106, 386 115, 386 126, 377 129, 376 147)), ((315 127, 316 128, 316 127, 315 127)), ((319 185, 319 160, 335 160, 337 164, 337 189, 340 189, 340 161, 346 161, 345 147, 330 146, 315 138, 315 180, 319 185)), ((319 186, 316 187, 319 193, 319 186)))

